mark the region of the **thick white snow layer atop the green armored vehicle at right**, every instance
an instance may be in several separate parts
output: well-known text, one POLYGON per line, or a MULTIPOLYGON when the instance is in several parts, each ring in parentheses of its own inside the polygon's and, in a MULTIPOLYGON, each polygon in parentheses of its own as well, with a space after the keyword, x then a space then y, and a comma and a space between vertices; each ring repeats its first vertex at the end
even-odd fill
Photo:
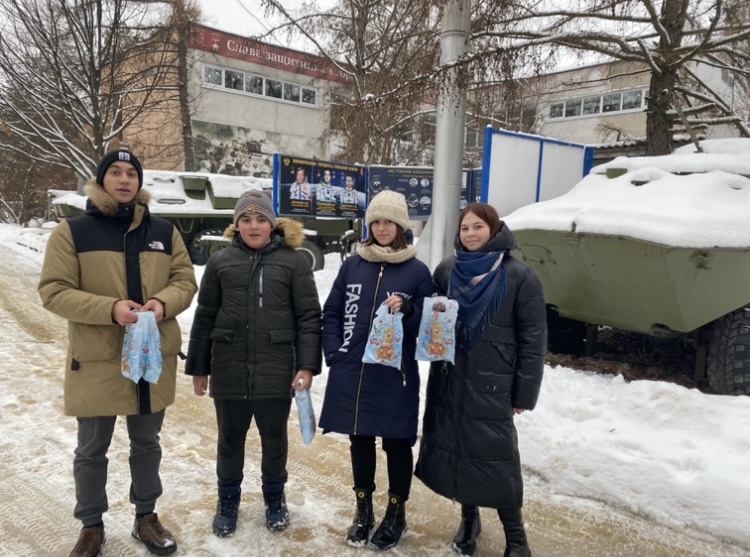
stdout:
POLYGON ((733 153, 617 158, 595 167, 567 194, 522 207, 504 220, 513 231, 616 235, 686 248, 750 247, 750 178, 742 176, 750 176, 750 140, 726 141, 718 147, 705 142, 706 150, 733 153), (626 172, 607 178, 609 169, 626 172))

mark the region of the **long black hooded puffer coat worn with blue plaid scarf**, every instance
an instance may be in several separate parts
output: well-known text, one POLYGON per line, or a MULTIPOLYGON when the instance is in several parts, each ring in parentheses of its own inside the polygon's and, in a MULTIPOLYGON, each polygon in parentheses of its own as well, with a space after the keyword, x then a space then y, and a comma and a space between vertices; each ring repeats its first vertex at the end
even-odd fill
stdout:
MULTIPOLYGON (((456 239, 456 250, 463 247, 456 239)), ((482 252, 505 251, 508 291, 495 319, 472 347, 459 346, 455 365, 433 363, 427 383, 416 476, 461 504, 517 509, 523 479, 513 409, 533 409, 547 346, 546 311, 536 273, 510 255, 513 234, 503 225, 482 252)), ((433 279, 445 294, 455 256, 433 279)))

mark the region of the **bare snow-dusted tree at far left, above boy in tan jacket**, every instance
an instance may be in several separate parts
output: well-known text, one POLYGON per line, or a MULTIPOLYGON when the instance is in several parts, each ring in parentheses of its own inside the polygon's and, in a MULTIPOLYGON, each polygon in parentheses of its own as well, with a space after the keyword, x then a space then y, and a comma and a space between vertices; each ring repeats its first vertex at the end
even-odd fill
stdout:
POLYGON ((128 132, 179 110, 175 2, 0 0, 0 149, 84 178, 123 141, 173 149, 128 132))

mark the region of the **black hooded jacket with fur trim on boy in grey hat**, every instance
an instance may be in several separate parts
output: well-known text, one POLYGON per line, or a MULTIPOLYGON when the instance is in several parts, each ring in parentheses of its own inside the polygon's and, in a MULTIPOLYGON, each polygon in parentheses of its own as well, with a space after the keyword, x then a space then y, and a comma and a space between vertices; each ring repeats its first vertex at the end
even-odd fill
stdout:
POLYGON ((230 225, 228 248, 201 280, 185 373, 210 376, 217 399, 291 399, 298 370, 320 373, 320 302, 302 224, 278 219, 253 250, 230 225))

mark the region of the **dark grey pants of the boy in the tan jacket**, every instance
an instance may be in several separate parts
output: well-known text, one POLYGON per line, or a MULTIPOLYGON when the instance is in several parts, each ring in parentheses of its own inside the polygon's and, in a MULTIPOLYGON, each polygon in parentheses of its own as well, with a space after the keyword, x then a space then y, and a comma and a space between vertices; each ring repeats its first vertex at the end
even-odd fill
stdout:
MULTIPOLYGON (((102 520, 107 502, 107 450, 112 442, 117 417, 78 419, 78 447, 73 460, 76 506, 73 515, 84 527, 102 520)), ((151 513, 161 496, 159 478, 161 445, 159 432, 164 411, 125 417, 130 437, 130 502, 136 513, 151 513)))

